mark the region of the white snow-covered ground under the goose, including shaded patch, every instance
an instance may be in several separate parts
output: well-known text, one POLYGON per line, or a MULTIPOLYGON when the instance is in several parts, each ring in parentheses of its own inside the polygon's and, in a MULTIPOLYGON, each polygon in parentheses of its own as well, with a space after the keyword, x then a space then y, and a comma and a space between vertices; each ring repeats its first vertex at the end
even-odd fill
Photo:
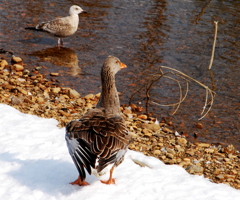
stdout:
POLYGON ((130 150, 114 171, 115 185, 99 181, 108 178, 105 174, 88 175, 89 186, 72 186, 69 182, 78 173, 68 154, 64 128, 58 128, 55 119, 23 114, 8 105, 0 104, 0 111, 0 199, 240 199, 239 190, 130 150))

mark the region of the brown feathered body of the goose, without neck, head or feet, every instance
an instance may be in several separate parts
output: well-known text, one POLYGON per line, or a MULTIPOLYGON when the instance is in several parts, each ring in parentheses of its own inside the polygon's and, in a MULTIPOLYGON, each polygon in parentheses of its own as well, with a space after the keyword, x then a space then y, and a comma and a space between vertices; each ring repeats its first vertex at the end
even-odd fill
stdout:
POLYGON ((91 174, 91 167, 100 172, 108 164, 121 163, 130 136, 121 117, 94 114, 70 122, 66 127, 66 140, 80 176, 85 176, 84 167, 91 174), (95 166, 97 159, 98 166, 95 166))

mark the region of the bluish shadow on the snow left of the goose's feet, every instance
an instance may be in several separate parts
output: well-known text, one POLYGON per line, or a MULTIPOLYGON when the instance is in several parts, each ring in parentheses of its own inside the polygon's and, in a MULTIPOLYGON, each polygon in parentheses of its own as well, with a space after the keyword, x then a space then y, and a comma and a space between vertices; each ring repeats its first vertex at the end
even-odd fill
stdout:
MULTIPOLYGON (((53 159, 21 160, 10 153, 0 154, 0 160, 17 164, 19 167, 8 172, 7 175, 30 190, 41 190, 51 195, 59 193, 67 195, 81 189, 81 187, 69 184, 78 176, 73 163, 53 159)), ((94 176, 88 176, 87 178, 90 184, 97 181, 94 176)))

